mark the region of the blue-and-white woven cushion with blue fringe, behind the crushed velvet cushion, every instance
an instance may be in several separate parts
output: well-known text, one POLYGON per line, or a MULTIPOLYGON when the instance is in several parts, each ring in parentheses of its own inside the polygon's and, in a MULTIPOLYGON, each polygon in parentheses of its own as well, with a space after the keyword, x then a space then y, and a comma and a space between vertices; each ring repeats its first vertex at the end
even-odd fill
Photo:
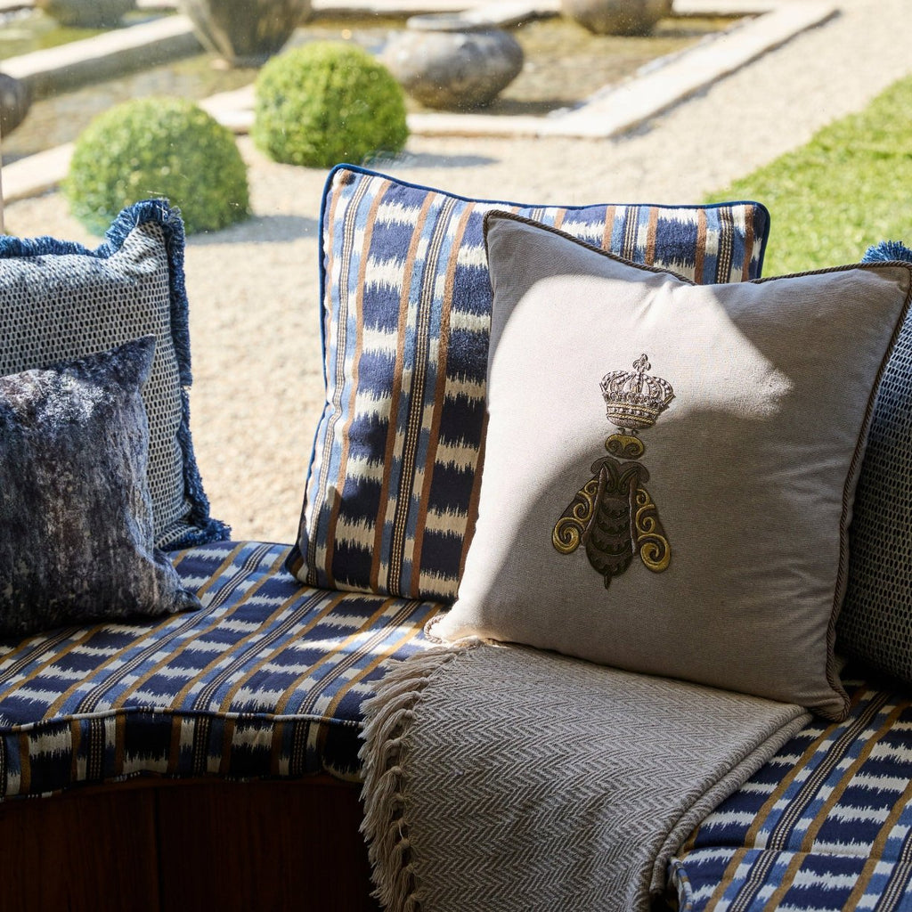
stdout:
POLYGON ((143 399, 155 544, 227 537, 212 520, 193 456, 183 224, 161 200, 121 212, 97 250, 49 237, 0 237, 0 375, 47 368, 156 337, 143 399))

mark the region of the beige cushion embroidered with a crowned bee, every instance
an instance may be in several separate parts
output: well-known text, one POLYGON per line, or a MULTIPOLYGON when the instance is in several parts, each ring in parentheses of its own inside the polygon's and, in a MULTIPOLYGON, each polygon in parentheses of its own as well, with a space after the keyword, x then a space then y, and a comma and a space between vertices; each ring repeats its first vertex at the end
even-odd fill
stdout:
POLYGON ((479 519, 432 635, 843 716, 846 529, 909 265, 700 287, 507 213, 486 243, 479 519))

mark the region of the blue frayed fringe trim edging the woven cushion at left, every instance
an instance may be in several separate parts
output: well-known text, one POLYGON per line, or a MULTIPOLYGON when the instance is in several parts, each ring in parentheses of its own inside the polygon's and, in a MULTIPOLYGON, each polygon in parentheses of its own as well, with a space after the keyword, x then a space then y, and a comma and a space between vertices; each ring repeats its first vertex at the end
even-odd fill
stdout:
POLYGON ((228 538, 231 528, 209 515, 209 499, 202 490, 202 477, 196 464, 190 435, 190 400, 186 387, 192 384, 190 355, 190 316, 187 289, 183 271, 184 232, 181 212, 172 208, 167 200, 143 200, 120 212, 105 233, 105 241, 94 251, 75 241, 59 241, 44 237, 18 238, 0 237, 0 257, 42 256, 45 254, 78 254, 106 260, 123 246, 130 232, 138 225, 153 222, 161 226, 165 249, 168 252, 168 272, 171 292, 171 338, 177 358, 178 375, 181 379, 181 427, 178 442, 183 454, 183 482, 185 495, 191 505, 189 522, 198 526, 169 544, 175 550, 189 548, 195 544, 228 538))

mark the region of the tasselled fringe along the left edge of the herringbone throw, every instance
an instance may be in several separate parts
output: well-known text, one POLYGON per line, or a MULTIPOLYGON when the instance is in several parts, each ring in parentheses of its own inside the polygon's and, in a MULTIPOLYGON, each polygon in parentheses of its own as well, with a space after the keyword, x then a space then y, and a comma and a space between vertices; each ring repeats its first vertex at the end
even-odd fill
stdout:
POLYGON ((411 858, 409 821, 405 816, 403 762, 415 707, 433 675, 469 649, 482 643, 461 640, 453 646, 433 647, 390 668, 377 694, 364 703, 363 764, 364 822, 368 841, 374 896, 387 912, 420 912, 420 885, 411 858))

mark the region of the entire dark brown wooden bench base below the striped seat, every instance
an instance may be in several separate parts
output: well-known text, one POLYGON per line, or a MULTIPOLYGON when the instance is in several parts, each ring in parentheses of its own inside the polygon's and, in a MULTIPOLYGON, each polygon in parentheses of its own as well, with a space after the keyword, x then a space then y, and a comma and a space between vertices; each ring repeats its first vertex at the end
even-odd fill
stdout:
POLYGON ((0 803, 3 907, 377 912, 357 785, 137 779, 0 803))

